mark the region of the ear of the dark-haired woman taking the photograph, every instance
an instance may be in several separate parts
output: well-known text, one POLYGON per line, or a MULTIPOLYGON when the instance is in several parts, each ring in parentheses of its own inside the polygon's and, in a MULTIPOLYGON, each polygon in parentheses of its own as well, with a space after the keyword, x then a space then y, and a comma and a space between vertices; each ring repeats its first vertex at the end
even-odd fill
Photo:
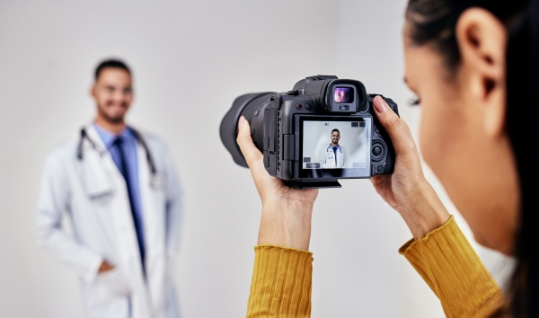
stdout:
POLYGON ((492 13, 471 8, 458 19, 456 41, 462 70, 468 77, 467 93, 483 114, 485 134, 505 132, 506 116, 506 42, 507 31, 492 13))

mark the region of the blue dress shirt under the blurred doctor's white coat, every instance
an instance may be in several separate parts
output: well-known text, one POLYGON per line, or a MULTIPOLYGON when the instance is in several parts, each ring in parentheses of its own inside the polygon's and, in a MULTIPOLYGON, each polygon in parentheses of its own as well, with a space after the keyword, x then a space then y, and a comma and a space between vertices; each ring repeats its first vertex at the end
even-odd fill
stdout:
MULTIPOLYGON (((107 150, 109 150, 110 156, 118 168, 121 166, 121 157, 119 148, 113 146, 113 143, 118 137, 122 140, 125 154, 124 159, 128 166, 129 187, 131 189, 131 195, 133 196, 133 207, 131 207, 131 210, 134 215, 133 217, 137 217, 137 223, 139 225, 137 235, 141 238, 143 243, 143 246, 139 246, 139 248, 141 249, 141 253, 144 253, 144 223, 142 217, 142 201, 140 199, 140 185, 138 182, 137 137, 128 127, 124 128, 118 135, 114 135, 96 123, 93 123, 93 127, 97 130, 99 137, 102 138, 103 144, 105 144, 107 150)), ((119 168, 119 170, 121 171, 121 168, 119 168)))

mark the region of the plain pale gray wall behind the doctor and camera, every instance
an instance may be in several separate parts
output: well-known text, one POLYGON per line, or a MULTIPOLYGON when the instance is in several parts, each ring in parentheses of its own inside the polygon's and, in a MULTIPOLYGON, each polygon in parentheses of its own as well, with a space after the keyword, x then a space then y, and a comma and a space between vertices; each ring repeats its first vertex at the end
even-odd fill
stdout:
MULTIPOLYGON (((93 119, 89 88, 103 57, 133 67, 128 121, 163 137, 181 173, 182 314, 243 316, 261 204, 250 173, 221 145, 220 119, 241 93, 286 91, 306 75, 334 74, 393 97, 416 131, 420 108, 406 106, 411 95, 402 84, 404 6, 0 2, 0 316, 82 316, 75 275, 34 243, 34 206, 44 155, 93 119)), ((436 296, 397 253, 411 237, 400 216, 369 181, 342 185, 322 190, 314 208, 313 317, 441 316, 436 296)), ((481 251, 501 268, 498 255, 481 251)))

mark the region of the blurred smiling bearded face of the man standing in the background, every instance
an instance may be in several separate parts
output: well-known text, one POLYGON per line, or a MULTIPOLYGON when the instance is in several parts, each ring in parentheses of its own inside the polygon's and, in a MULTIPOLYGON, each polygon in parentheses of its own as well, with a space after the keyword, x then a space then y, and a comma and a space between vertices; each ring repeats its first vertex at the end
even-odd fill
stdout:
POLYGON ((110 123, 123 122, 133 101, 131 75, 121 68, 105 67, 92 88, 98 116, 110 123))

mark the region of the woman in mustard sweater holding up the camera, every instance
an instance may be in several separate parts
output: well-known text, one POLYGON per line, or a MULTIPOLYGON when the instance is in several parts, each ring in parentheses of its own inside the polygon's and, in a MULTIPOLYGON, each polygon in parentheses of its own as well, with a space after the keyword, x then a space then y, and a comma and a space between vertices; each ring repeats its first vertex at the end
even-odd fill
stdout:
MULTIPOLYGON (((400 252, 447 316, 539 316, 533 245, 539 1, 411 0, 406 18, 405 81, 423 107, 422 155, 476 241, 517 258, 509 297, 425 180, 406 123, 376 97, 396 163, 392 175, 371 180, 411 230, 413 239, 400 252)), ((271 177, 250 131, 240 119, 237 142, 262 201, 247 316, 308 317, 313 258, 307 251, 318 190, 287 188, 271 177)))

